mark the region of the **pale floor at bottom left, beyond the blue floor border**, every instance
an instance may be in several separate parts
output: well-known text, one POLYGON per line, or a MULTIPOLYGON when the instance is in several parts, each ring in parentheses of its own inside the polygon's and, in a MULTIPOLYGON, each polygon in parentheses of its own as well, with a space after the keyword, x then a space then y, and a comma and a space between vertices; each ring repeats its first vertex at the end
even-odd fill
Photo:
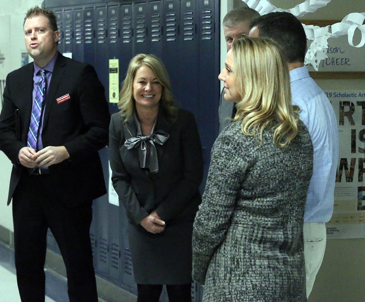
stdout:
MULTIPOLYGON (((16 276, 8 269, 0 265, 0 301, 1 302, 20 302, 16 276)), ((46 297, 46 302, 55 302, 46 297)))

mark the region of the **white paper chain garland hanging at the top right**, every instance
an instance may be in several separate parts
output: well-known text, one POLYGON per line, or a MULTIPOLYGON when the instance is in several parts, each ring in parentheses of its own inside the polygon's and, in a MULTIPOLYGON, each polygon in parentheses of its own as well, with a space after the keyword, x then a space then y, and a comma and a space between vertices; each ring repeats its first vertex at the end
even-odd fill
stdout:
MULTIPOLYGON (((250 8, 256 10, 260 15, 268 14, 269 12, 290 12, 296 17, 301 17, 308 12, 315 12, 318 8, 326 6, 331 0, 306 0, 301 4, 289 10, 283 10, 272 5, 269 0, 242 0, 250 8)), ((348 14, 341 22, 327 25, 325 27, 302 24, 306 32, 307 39, 313 40, 308 51, 304 64, 312 64, 318 71, 318 66, 321 60, 327 57, 328 38, 337 38, 341 35, 347 35, 351 46, 362 47, 365 45, 365 12, 353 12, 348 14), (361 32, 361 41, 358 45, 353 44, 354 33, 356 29, 361 32)))

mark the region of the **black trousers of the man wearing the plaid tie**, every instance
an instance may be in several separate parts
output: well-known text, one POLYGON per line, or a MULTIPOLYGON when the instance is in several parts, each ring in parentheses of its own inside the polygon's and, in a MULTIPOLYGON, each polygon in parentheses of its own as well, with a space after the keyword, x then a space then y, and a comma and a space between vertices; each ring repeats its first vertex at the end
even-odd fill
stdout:
MULTIPOLYGON (((72 181, 72 180, 70 180, 72 181)), ((22 175, 13 195, 15 268, 22 302, 45 301, 47 229, 66 266, 70 302, 97 302, 90 224, 92 201, 69 208, 55 196, 50 175, 22 175)))

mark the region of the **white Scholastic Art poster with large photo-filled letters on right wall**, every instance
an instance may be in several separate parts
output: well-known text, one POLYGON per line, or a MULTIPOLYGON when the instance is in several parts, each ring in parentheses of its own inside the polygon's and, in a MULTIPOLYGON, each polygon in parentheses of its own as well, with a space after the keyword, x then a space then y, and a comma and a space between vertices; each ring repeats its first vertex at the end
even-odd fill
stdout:
POLYGON ((325 91, 336 113, 339 160, 327 238, 365 237, 365 90, 325 91))

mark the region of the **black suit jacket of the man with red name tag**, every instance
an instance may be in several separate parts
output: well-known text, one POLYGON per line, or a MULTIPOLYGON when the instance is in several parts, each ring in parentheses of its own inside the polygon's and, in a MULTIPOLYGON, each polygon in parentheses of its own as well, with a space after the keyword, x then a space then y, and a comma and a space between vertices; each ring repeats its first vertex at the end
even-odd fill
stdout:
MULTIPOLYGON (((8 204, 22 173, 19 150, 27 145, 32 110, 33 63, 8 74, 0 114, 0 150, 13 163, 8 204), (15 112, 19 129, 16 131, 15 112), (19 139, 16 137, 19 132, 19 139)), ((65 146, 70 158, 49 167, 55 194, 70 207, 106 193, 98 150, 108 143, 110 114, 95 69, 58 53, 45 99, 43 147, 65 146), (57 99, 69 95, 69 99, 57 99)))

